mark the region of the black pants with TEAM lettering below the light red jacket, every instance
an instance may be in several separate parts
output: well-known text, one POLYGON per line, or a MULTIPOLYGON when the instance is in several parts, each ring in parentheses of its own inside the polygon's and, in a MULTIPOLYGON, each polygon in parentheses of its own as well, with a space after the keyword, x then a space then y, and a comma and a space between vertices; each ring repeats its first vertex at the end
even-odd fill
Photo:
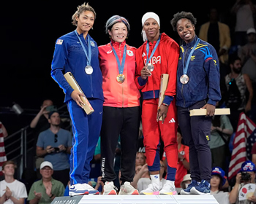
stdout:
POLYGON ((114 159, 118 137, 121 139, 121 181, 133 181, 138 148, 140 107, 103 106, 101 137, 102 181, 114 181, 114 159))

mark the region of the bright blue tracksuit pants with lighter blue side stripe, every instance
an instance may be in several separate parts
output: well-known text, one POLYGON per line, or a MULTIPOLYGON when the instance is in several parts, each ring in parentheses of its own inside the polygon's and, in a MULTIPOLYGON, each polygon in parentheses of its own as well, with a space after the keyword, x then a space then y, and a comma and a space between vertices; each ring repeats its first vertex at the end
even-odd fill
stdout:
POLYGON ((70 185, 88 183, 91 171, 90 162, 94 157, 95 148, 99 140, 103 101, 89 99, 89 102, 94 108, 94 112, 89 115, 75 101, 70 100, 67 104, 72 120, 73 133, 72 149, 69 157, 70 185))

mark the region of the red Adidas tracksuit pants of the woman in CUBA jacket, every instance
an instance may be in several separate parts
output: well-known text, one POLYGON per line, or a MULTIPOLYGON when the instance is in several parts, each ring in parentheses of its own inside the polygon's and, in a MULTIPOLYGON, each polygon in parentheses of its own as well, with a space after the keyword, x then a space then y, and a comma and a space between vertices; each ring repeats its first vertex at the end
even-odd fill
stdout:
MULTIPOLYGON (((143 100, 142 126, 143 143, 146 151, 146 162, 149 171, 160 170, 160 137, 164 142, 164 151, 167 164, 170 168, 177 168, 178 144, 177 144, 177 109, 175 98, 170 103, 164 124, 157 122, 158 98, 143 100)), ((173 177, 173 176, 172 176, 173 177)))

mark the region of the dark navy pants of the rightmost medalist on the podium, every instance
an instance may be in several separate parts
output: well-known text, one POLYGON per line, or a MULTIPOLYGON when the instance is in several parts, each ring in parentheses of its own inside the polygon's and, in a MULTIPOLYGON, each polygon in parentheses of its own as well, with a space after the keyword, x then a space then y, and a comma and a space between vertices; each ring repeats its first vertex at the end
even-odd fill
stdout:
POLYGON ((189 110, 200 109, 206 101, 199 101, 188 108, 178 106, 178 124, 184 144, 189 146, 189 165, 192 180, 211 180, 211 119, 206 116, 189 116, 189 110))

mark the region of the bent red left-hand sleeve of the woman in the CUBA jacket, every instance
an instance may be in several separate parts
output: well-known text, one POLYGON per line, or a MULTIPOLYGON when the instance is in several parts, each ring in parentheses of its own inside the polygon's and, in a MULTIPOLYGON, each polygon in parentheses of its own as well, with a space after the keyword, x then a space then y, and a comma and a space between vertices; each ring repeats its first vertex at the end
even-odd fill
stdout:
POLYGON ((136 69, 135 69, 135 84, 137 85, 138 89, 141 90, 145 87, 146 82, 148 79, 141 79, 140 72, 144 67, 143 58, 141 53, 141 47, 136 50, 136 69))

